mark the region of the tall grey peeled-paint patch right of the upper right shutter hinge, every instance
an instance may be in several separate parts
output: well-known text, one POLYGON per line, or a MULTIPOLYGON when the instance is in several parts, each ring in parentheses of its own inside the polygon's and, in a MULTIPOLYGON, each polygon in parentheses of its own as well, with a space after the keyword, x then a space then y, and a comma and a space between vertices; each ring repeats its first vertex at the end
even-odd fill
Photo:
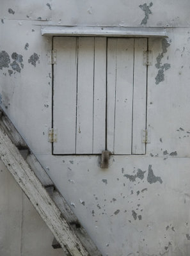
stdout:
POLYGON ((157 63, 155 64, 155 67, 158 69, 157 76, 155 77, 155 84, 159 84, 162 81, 164 81, 164 71, 168 70, 171 65, 169 63, 164 63, 164 65, 161 65, 162 58, 164 57, 164 53, 167 52, 167 48, 170 46, 170 43, 164 38, 162 40, 162 52, 159 53, 156 60, 157 63))

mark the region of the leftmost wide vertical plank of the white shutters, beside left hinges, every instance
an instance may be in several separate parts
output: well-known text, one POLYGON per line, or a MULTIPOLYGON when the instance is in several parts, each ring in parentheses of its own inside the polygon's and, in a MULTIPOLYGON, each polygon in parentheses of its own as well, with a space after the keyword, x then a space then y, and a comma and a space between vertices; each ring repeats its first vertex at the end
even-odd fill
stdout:
POLYGON ((58 142, 54 154, 75 154, 77 38, 55 37, 57 64, 54 65, 54 127, 58 142))

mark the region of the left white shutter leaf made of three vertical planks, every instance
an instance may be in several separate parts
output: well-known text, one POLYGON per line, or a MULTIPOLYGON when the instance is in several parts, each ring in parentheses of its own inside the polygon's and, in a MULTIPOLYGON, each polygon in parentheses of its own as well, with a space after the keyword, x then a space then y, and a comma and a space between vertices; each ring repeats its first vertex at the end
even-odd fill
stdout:
POLYGON ((106 148, 106 38, 55 37, 54 154, 106 148))

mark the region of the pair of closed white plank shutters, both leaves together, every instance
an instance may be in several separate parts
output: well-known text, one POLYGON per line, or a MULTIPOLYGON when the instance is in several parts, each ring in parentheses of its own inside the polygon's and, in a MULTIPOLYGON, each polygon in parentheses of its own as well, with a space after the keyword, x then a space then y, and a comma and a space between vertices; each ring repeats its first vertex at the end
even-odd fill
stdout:
POLYGON ((146 48, 146 38, 54 38, 54 154, 145 154, 146 48))

